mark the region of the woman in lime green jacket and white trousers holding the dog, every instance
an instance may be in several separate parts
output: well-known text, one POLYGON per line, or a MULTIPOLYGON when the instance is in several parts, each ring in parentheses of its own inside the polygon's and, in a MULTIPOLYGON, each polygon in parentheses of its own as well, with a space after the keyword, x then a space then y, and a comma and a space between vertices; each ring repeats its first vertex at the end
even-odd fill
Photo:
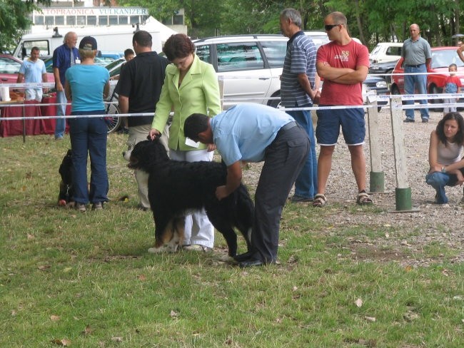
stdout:
MULTIPOLYGON (((161 96, 156 103, 150 136, 159 135, 169 113, 174 111, 169 128, 169 157, 173 160, 196 162, 213 160, 213 146, 192 144, 183 134, 183 123, 192 113, 213 117, 221 112, 218 77, 211 64, 195 54, 195 45, 185 34, 172 35, 163 52, 171 61, 166 67, 161 96)), ((185 250, 209 251, 214 245, 214 227, 204 210, 186 216, 185 250)))

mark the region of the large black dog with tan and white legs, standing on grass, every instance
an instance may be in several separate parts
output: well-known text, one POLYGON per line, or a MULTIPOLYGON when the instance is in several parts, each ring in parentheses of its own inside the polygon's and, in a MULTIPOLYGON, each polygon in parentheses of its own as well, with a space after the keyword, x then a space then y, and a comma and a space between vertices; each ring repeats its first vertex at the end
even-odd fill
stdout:
POLYGON ((201 208, 205 208, 213 226, 226 238, 229 256, 237 254, 233 227, 240 230, 248 250, 251 249, 254 205, 246 187, 241 184, 227 198, 216 198, 216 188, 226 184, 226 165, 171 160, 156 139, 135 145, 128 168, 149 173, 148 200, 155 220, 156 252, 166 247, 175 251, 183 241, 186 213, 201 208))

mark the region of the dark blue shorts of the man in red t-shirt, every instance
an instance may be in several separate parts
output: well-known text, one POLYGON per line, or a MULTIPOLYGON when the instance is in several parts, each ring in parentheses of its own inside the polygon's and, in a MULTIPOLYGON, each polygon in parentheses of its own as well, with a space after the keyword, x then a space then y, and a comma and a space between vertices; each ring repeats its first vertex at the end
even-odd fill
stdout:
MULTIPOLYGON (((321 105, 323 106, 323 105, 321 105)), ((316 138, 319 145, 336 145, 340 127, 347 145, 362 145, 365 138, 363 108, 318 110, 316 138)))

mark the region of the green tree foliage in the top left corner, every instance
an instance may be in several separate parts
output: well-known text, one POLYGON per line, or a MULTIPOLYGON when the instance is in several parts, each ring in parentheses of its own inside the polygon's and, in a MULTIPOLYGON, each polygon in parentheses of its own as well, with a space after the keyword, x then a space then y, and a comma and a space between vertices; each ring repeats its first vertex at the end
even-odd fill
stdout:
POLYGON ((9 51, 19 41, 21 31, 31 21, 24 14, 38 9, 38 4, 50 6, 51 0, 0 0, 0 51, 9 51))

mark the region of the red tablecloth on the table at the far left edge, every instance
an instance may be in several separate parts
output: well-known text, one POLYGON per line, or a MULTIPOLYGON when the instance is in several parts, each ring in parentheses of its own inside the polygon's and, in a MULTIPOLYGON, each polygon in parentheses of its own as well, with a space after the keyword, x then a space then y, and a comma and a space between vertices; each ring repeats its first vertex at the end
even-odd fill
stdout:
MULTIPOLYGON (((2 137, 23 135, 23 121, 5 121, 4 118, 9 117, 31 117, 41 116, 40 106, 28 105, 34 104, 35 101, 25 101, 24 104, 18 104, 18 106, 5 106, 1 108, 0 118, 0 135, 2 137)), ((43 134, 44 120, 25 120, 25 134, 26 135, 38 135, 43 134)))

